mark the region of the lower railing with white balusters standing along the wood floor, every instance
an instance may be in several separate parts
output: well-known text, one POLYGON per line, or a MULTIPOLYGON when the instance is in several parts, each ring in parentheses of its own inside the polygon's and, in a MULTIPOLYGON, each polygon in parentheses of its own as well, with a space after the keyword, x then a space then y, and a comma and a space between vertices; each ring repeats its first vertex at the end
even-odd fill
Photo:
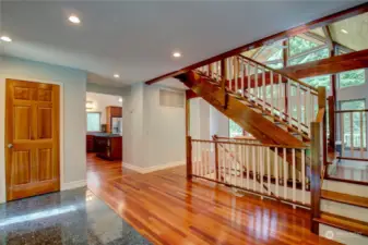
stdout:
POLYGON ((292 205, 309 207, 307 147, 261 145, 187 137, 187 176, 197 177, 292 205), (286 158, 292 152, 292 168, 286 158), (301 174, 297 170, 301 158, 301 174))

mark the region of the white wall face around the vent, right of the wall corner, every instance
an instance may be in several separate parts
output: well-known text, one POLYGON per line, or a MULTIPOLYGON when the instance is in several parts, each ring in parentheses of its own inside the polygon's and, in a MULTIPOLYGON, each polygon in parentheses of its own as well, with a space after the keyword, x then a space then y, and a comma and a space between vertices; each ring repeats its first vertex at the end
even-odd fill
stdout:
MULTIPOLYGON (((161 106, 161 88, 159 85, 144 86, 145 167, 186 159, 186 108, 161 106)), ((183 90, 180 93, 185 95, 183 90)))

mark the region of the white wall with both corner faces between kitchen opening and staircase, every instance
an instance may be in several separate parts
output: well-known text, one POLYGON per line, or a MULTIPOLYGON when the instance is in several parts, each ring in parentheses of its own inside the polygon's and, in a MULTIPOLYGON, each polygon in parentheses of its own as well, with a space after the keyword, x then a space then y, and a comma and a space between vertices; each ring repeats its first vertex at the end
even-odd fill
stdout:
POLYGON ((159 106, 159 85, 138 83, 124 97, 123 162, 147 169, 185 162, 185 108, 159 106))

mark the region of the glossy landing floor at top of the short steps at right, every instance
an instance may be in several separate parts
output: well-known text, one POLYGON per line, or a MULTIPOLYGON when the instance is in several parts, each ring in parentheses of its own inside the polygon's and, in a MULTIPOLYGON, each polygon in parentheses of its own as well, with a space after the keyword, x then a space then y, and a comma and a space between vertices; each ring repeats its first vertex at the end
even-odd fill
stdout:
POLYGON ((329 175, 368 183, 368 161, 341 160, 329 167, 329 175))

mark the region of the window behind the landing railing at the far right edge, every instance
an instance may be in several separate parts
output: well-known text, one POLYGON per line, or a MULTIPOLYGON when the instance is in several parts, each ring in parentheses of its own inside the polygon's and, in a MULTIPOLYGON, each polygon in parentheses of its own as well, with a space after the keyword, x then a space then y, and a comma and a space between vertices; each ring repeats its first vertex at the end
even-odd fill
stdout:
MULTIPOLYGON (((366 100, 365 99, 357 99, 357 100, 346 100, 340 101, 341 110, 363 110, 366 109, 366 100)), ((366 117, 363 113, 360 119, 359 112, 352 112, 352 113, 343 113, 343 132, 344 132, 344 143, 346 148, 351 148, 352 146, 352 134, 353 134, 353 147, 359 148, 360 147, 360 136, 363 136, 363 147, 366 148, 366 117), (353 122, 353 127, 352 127, 353 122), (363 132, 360 131, 360 123, 363 124, 363 132)), ((340 119, 339 119, 340 120, 340 119)))

